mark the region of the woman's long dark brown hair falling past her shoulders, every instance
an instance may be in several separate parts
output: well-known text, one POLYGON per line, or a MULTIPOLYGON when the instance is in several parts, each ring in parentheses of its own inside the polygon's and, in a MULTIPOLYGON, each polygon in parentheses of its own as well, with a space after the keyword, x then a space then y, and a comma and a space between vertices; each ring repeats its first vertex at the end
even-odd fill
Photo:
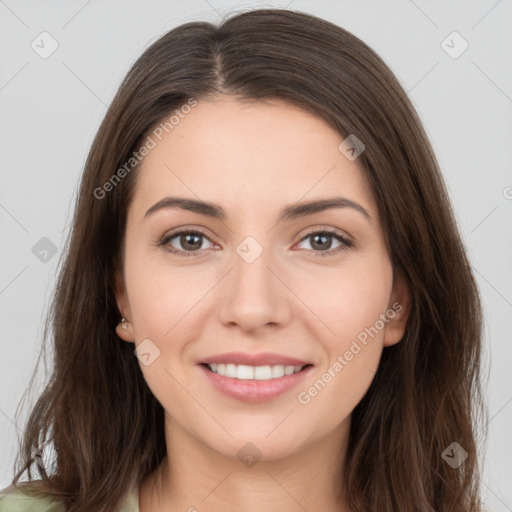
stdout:
POLYGON ((481 510, 481 305, 428 138, 397 79, 365 43, 280 9, 242 12, 218 26, 181 25, 122 82, 83 172, 45 330, 53 373, 27 421, 13 484, 24 471, 33 480, 34 450, 50 443, 53 471, 35 465, 43 487, 69 512, 111 512, 166 456, 162 406, 132 344, 115 333, 114 274, 137 176, 126 163, 162 119, 216 93, 285 100, 365 145, 360 159, 411 311, 403 339, 384 349, 352 414, 339 476, 351 508, 481 510), (460 450, 452 443, 467 453, 457 467, 446 457, 450 446, 460 450))

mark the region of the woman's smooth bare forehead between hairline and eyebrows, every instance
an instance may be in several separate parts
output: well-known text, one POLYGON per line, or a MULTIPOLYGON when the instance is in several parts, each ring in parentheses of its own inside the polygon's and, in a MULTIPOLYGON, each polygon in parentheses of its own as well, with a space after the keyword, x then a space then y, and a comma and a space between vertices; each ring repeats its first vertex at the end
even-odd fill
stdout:
POLYGON ((338 149, 344 137, 298 107, 222 97, 200 100, 174 121, 158 137, 154 130, 149 134, 155 146, 137 170, 134 209, 165 195, 200 198, 238 213, 343 195, 375 213, 362 165, 338 149))

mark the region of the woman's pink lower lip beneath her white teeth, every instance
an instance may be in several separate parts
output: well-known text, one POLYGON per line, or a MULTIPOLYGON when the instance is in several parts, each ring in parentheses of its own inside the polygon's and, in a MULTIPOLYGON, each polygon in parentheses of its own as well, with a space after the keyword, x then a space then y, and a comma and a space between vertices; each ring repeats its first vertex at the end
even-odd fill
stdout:
POLYGON ((224 377, 223 375, 208 370, 204 365, 199 365, 199 367, 214 388, 231 398, 251 403, 265 402, 282 395, 299 384, 306 374, 309 373, 309 370, 313 368, 312 366, 308 366, 298 373, 285 375, 276 379, 242 380, 224 377))

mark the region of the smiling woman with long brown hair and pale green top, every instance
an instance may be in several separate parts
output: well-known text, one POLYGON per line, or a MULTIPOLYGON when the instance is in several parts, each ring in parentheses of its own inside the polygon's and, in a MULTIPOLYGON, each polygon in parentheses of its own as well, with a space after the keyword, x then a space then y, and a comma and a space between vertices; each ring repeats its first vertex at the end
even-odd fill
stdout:
POLYGON ((331 23, 254 10, 139 58, 51 318, 0 510, 481 510, 475 280, 414 108, 331 23))

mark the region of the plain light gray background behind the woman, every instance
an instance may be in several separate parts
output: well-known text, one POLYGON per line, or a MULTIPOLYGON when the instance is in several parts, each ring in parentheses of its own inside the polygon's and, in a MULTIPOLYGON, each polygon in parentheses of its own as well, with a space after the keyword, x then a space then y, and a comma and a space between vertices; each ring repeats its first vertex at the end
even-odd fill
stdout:
MULTIPOLYGON (((16 418, 16 406, 39 353, 78 178, 106 105, 130 65, 164 32, 251 6, 288 6, 353 32, 383 57, 418 109, 484 301, 484 500, 490 510, 512 510, 512 3, 506 0, 0 0, 0 487, 12 478, 26 416, 16 418), (47 59, 31 47, 43 31, 59 45, 47 59), (456 59, 441 46, 453 31, 469 43, 456 59)), ((452 53, 462 48, 453 37, 446 44, 452 53)))

